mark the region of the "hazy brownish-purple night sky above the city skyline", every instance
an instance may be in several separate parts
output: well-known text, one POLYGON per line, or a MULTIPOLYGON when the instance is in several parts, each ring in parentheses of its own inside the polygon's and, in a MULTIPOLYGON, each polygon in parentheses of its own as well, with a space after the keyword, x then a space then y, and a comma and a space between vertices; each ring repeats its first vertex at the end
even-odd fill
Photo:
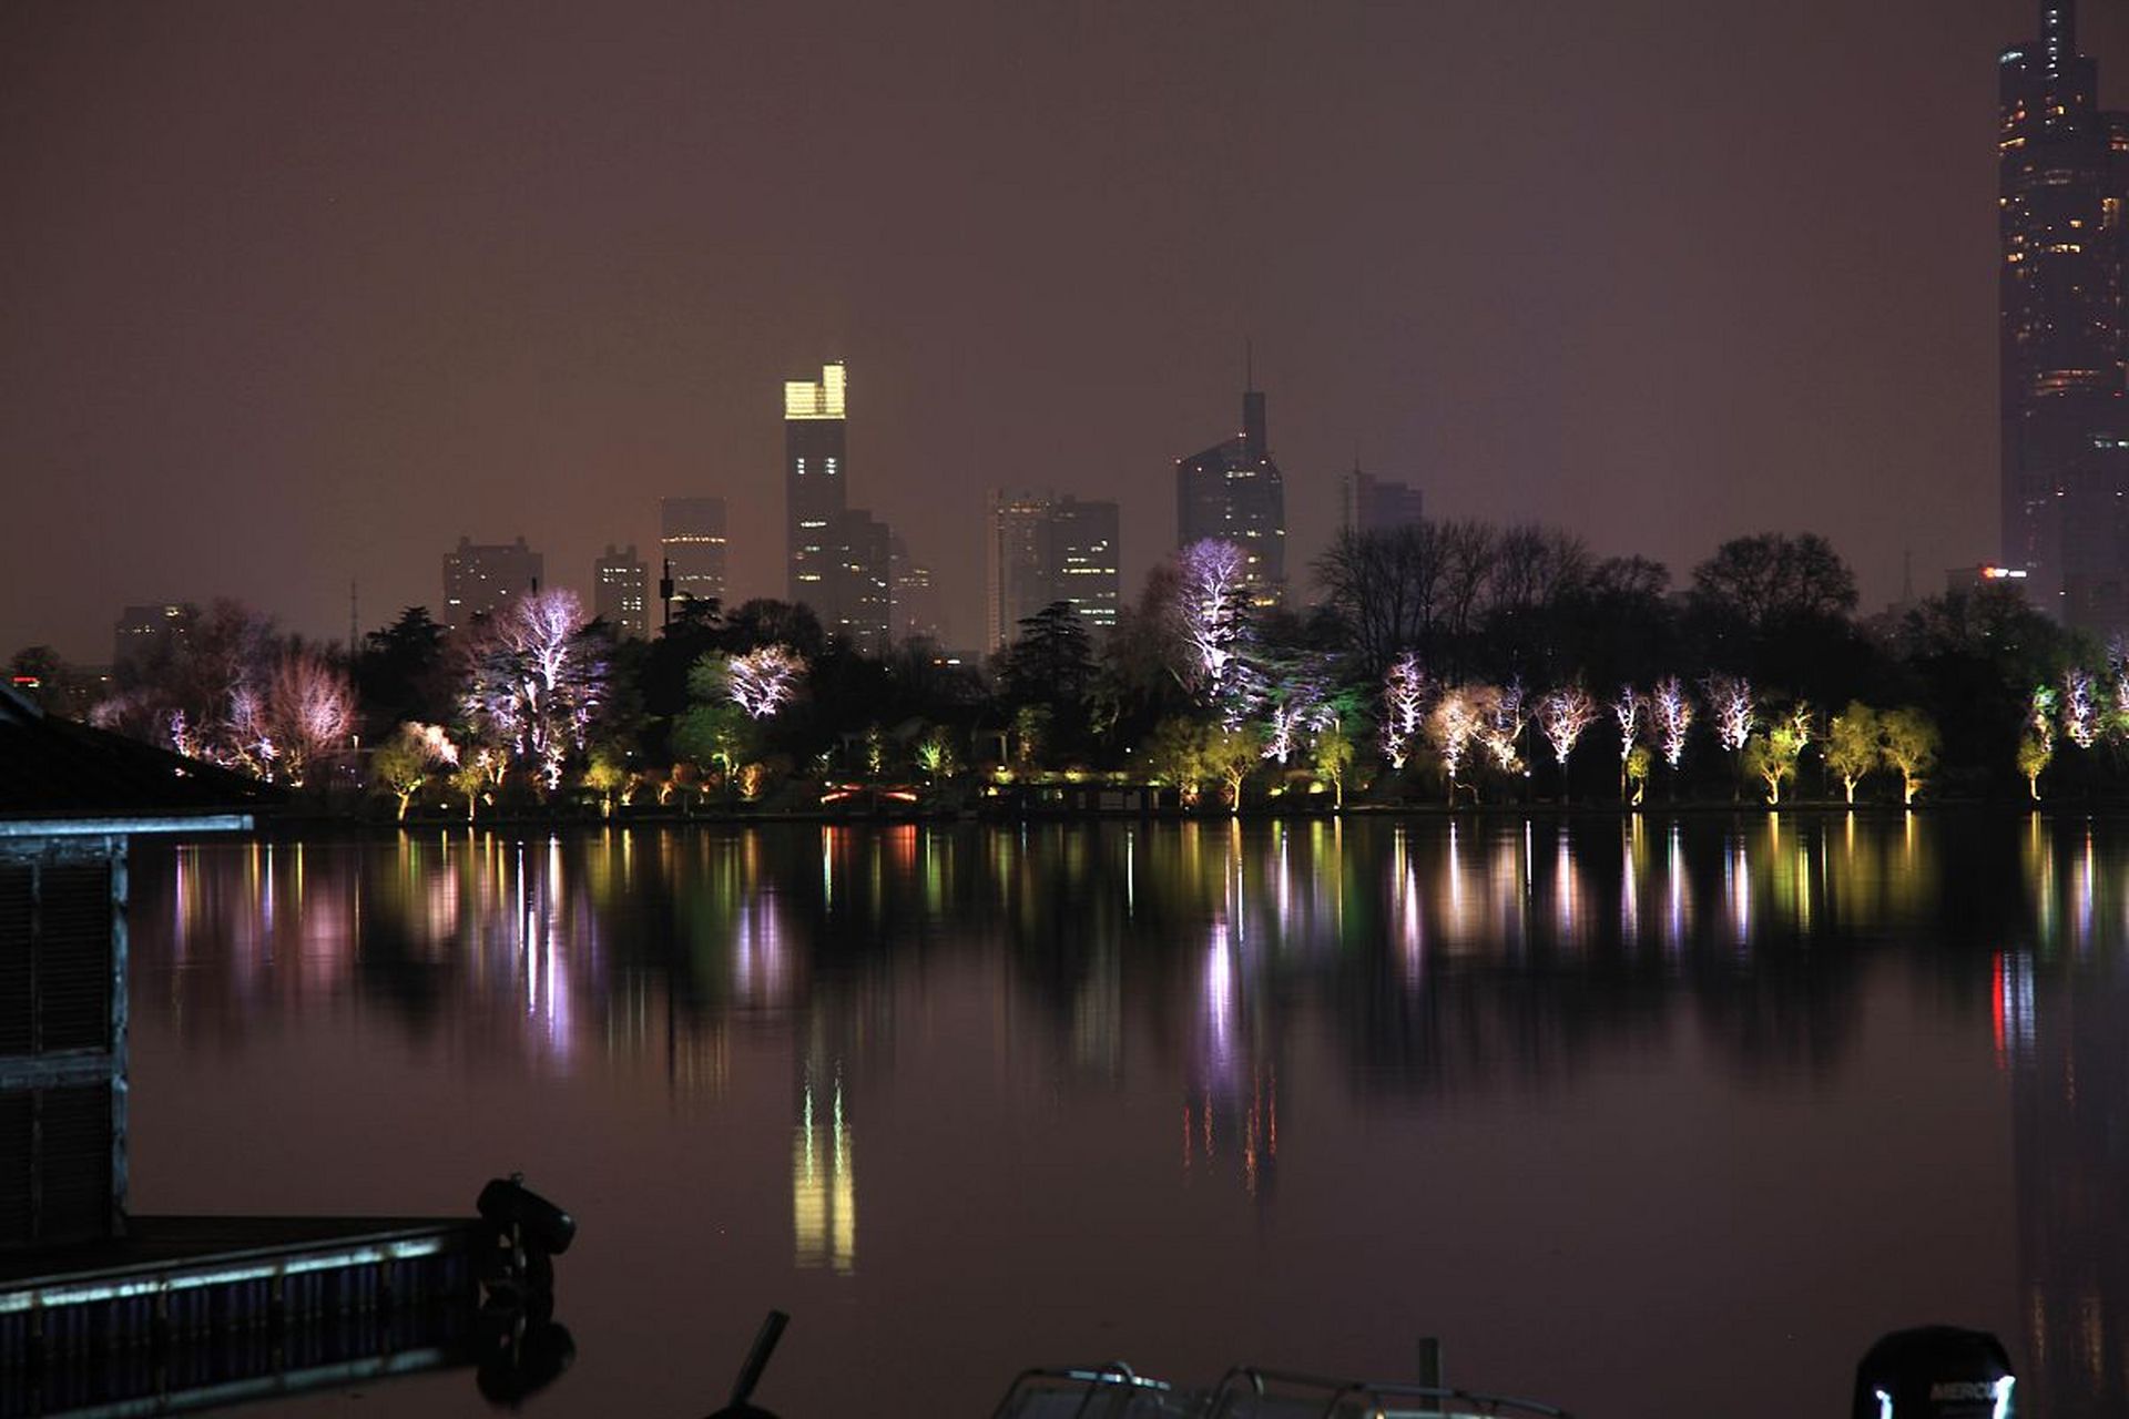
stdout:
MULTIPOLYGON (((2129 13, 2089 0, 2103 102, 2129 13)), ((781 381, 981 632, 981 489, 1124 504, 1233 432, 1684 581, 1820 530, 1865 608, 1995 553, 1995 55, 1880 4, 0 9, 0 655, 126 602, 313 636, 460 534, 590 594, 656 500, 783 591, 781 381)))

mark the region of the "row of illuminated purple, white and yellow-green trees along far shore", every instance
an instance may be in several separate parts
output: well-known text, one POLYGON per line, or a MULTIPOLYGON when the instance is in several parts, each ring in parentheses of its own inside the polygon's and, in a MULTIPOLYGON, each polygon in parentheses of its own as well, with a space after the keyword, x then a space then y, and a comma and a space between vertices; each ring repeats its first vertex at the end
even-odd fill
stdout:
MULTIPOLYGON (((1199 542, 1113 630, 1060 602, 984 668, 915 640, 860 655, 775 600, 690 604, 649 642, 615 640, 568 591, 458 634, 409 608, 353 657, 221 602, 89 713, 275 783, 362 783, 400 811, 424 794, 471 808, 779 785, 796 802, 824 781, 947 789, 971 770, 1122 772, 1228 802, 1252 787, 1639 802, 1652 781, 1778 802, 1810 764, 1848 800, 1880 770, 1903 800, 1925 783, 2099 794, 2129 745, 2125 655, 1999 587, 1861 621, 1852 572, 1812 534, 1724 542, 1678 591, 1644 557, 1475 521, 1346 534, 1314 577, 1316 604, 1267 608, 1239 549, 1199 542)), ((49 651, 28 662, 70 683, 49 651)))

